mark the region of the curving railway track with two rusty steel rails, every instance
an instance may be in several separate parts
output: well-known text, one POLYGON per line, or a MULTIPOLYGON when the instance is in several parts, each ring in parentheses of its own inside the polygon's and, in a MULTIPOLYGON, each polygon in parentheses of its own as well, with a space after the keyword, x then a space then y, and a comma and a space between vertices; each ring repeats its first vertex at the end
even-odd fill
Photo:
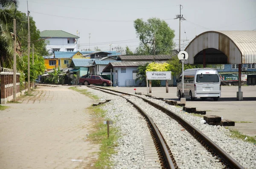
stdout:
POLYGON ((121 96, 127 99, 128 102, 130 102, 132 105, 136 107, 136 109, 148 120, 148 126, 149 128, 151 128, 151 135, 157 147, 157 152, 160 157, 162 168, 177 169, 179 168, 179 166, 177 165, 174 159, 174 156, 172 155, 172 152, 170 151, 169 146, 166 143, 166 140, 163 138, 163 135, 161 134, 160 130, 155 125, 154 120, 151 119, 153 117, 151 115, 148 115, 141 108, 141 106, 138 106, 136 104, 137 102, 139 102, 139 100, 143 100, 143 102, 148 103, 151 106, 150 109, 156 109, 155 112, 157 112, 157 110, 162 112, 162 114, 164 112, 166 115, 171 117, 172 120, 176 121, 175 123, 180 124, 180 126, 182 127, 181 130, 185 129, 187 133, 187 134, 183 133, 183 135, 186 138, 182 138, 182 139, 187 139, 187 138, 191 139, 190 137, 193 137, 195 140, 197 140, 198 143, 201 144, 201 146, 203 146, 208 152, 210 152, 212 156, 218 159, 219 163, 222 164, 222 168, 243 169, 243 167, 236 160, 234 160, 230 155, 224 152, 223 149, 221 149, 217 144, 215 144, 212 140, 210 140, 206 135, 204 135, 202 132, 200 132, 198 129, 196 129, 186 120, 184 120, 182 117, 170 111, 169 109, 166 109, 165 107, 160 106, 157 103, 154 103, 144 97, 140 97, 137 95, 114 91, 111 89, 101 88, 97 86, 87 86, 87 87, 90 87, 91 89, 97 89, 102 92, 109 93, 111 95, 121 96))

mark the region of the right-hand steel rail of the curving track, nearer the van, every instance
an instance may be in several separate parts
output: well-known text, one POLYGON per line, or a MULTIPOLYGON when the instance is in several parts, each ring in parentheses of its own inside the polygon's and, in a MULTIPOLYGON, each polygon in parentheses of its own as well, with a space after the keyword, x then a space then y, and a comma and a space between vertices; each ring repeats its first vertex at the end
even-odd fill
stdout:
MULTIPOLYGON (((93 86, 96 87, 96 86, 93 86)), ((101 88, 101 89, 105 89, 102 87, 96 87, 96 88, 101 88)), ((190 124, 188 121, 184 120, 182 117, 180 117, 179 115, 177 115, 175 112, 170 111, 169 109, 166 109, 163 106, 160 106, 157 103, 154 103, 148 99, 145 99, 141 96, 137 96, 137 95, 133 95, 133 94, 129 94, 129 93, 125 93, 125 92, 119 92, 116 90, 111 90, 111 89, 105 89, 108 91, 112 91, 112 92, 117 92, 117 93, 121 93, 121 94, 125 94, 125 95, 131 95, 131 96, 136 96, 136 97, 140 97, 141 99, 143 99, 145 102, 151 104, 152 106, 156 107, 157 109, 160 109, 161 111, 165 112, 167 115, 171 116, 172 118, 174 118, 175 120, 178 120, 179 123, 183 126, 186 127, 187 130, 189 130, 190 133, 192 133, 193 136, 198 136, 201 140, 203 140, 203 142, 209 146, 210 149, 212 149, 222 160, 224 160, 224 162, 230 166, 233 169, 244 169, 243 166, 241 166, 236 160, 234 160, 230 155, 227 154, 227 152, 225 152, 223 149, 221 149, 220 146, 218 146, 216 143, 214 143, 209 137, 207 137, 206 135, 204 135, 202 132, 200 132, 198 129, 196 129, 192 124, 190 124)), ((185 128, 185 129, 186 129, 185 128)), ((197 138, 196 138, 197 139, 197 138)))

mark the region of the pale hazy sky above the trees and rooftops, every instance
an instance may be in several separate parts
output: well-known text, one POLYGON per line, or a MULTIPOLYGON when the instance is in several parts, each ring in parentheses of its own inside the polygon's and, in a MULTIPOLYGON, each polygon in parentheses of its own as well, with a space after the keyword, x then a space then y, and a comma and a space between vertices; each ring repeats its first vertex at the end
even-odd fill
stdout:
MULTIPOLYGON (((180 5, 186 19, 181 22, 181 50, 206 31, 256 31, 256 0, 28 0, 40 31, 63 30, 80 37, 80 49, 97 46, 102 51, 128 46, 134 52, 140 43, 134 20, 152 17, 175 30, 178 49, 179 20, 174 18, 180 5)), ((19 0, 18 10, 27 13, 26 0, 19 0)))

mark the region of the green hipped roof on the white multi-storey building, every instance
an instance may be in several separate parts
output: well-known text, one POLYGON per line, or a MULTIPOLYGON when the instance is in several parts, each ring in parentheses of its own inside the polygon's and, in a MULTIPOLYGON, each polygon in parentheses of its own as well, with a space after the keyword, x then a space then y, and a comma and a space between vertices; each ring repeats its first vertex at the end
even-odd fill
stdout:
POLYGON ((61 30, 44 30, 40 32, 40 37, 63 37, 63 38, 79 38, 76 35, 61 30))

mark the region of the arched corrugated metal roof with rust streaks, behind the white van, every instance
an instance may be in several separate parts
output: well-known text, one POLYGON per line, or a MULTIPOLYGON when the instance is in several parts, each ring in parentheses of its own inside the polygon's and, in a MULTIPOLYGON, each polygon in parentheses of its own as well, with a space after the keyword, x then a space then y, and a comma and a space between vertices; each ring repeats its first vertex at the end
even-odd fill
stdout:
POLYGON ((208 31, 195 37, 185 51, 189 54, 184 63, 252 64, 256 63, 256 31, 208 31))

